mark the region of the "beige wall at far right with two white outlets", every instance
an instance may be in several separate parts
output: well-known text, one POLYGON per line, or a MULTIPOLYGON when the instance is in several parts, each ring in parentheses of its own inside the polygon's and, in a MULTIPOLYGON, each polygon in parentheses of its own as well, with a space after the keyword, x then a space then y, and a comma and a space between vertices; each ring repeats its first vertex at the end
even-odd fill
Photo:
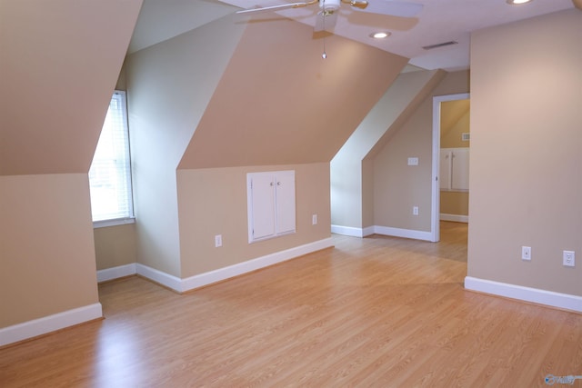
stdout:
POLYGON ((580 42, 575 9, 472 36, 469 276, 582 295, 580 42))

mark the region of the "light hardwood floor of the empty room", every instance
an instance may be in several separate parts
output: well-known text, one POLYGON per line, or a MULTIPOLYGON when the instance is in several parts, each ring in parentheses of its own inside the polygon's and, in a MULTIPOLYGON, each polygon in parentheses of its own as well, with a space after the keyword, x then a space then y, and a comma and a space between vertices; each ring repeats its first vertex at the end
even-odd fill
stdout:
POLYGON ((106 319, 1 349, 0 386, 531 387, 582 375, 582 314, 465 291, 460 226, 444 223, 440 244, 335 235, 335 248, 183 295, 139 277, 101 284, 106 319))

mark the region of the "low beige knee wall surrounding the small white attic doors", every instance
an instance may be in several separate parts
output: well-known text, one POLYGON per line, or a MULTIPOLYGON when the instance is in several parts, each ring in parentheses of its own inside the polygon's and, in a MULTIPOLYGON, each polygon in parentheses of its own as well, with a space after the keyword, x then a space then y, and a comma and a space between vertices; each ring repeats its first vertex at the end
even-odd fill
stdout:
POLYGON ((178 170, 178 207, 182 277, 313 243, 330 236, 329 164, 178 170), (246 174, 283 170, 296 172, 296 233, 248 244, 246 174))

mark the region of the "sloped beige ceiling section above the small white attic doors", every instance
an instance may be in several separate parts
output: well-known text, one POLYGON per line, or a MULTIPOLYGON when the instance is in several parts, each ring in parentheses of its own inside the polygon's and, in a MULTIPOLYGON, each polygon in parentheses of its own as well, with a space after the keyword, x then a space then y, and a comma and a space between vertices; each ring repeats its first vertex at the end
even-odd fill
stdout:
POLYGON ((407 59, 325 45, 291 20, 250 23, 178 168, 329 162, 407 59))

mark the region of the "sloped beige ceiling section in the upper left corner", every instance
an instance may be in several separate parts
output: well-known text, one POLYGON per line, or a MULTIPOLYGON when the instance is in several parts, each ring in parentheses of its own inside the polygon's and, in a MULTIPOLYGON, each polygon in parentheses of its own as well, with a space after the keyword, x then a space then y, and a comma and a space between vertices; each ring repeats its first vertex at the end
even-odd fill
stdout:
POLYGON ((141 4, 0 2, 0 175, 88 172, 141 4))

